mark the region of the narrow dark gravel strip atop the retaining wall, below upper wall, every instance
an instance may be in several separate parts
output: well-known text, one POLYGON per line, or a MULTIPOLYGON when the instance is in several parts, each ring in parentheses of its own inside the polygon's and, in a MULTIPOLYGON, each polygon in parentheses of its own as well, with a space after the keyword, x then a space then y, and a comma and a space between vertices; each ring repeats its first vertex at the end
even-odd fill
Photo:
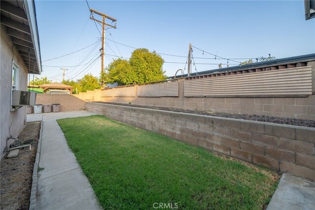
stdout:
POLYGON ((273 117, 273 116, 264 116, 264 115, 255 115, 255 114, 254 115, 230 114, 230 113, 223 113, 223 112, 198 111, 198 110, 171 108, 171 107, 162 107, 162 106, 129 105, 129 104, 119 104, 119 103, 109 103, 109 102, 96 102, 96 103, 110 104, 110 105, 124 105, 124 106, 139 107, 139 108, 151 108, 151 109, 158 109, 158 110, 165 110, 165 111, 184 112, 184 113, 191 113, 191 114, 201 114, 201 115, 209 115, 209 116, 216 116, 216 117, 227 117, 227 118, 234 118, 234 119, 244 119, 244 120, 271 122, 271 123, 278 123, 278 124, 296 125, 296 126, 305 126, 305 127, 315 128, 315 120, 302 120, 302 119, 273 117))

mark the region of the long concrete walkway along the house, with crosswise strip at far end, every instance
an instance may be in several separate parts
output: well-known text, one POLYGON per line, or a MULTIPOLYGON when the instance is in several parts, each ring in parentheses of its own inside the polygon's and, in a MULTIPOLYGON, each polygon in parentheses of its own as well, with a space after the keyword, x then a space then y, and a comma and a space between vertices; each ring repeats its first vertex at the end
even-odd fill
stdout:
POLYGON ((43 170, 37 174, 36 209, 102 209, 56 121, 93 114, 89 111, 70 111, 27 115, 28 121, 43 120, 39 156, 39 167, 43 170))

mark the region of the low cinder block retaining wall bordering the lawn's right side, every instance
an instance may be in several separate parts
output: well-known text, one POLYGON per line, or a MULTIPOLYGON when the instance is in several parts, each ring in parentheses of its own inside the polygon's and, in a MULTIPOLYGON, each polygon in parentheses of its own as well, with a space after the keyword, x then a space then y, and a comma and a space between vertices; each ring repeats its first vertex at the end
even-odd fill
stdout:
POLYGON ((315 180, 315 128, 128 106, 86 109, 256 165, 315 180))

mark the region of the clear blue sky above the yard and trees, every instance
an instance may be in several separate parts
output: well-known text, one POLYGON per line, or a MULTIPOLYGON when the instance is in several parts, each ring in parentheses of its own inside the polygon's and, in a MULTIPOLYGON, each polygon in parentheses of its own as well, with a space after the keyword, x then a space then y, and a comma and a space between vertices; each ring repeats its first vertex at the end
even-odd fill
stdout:
MULTIPOLYGON (((163 70, 169 76, 185 68, 189 43, 230 59, 268 57, 269 53, 276 58, 315 53, 315 19, 305 20, 303 0, 88 2, 91 8, 117 19, 117 29, 106 30, 106 38, 135 48, 185 56, 161 55, 165 61, 163 70)), ((61 67, 68 69, 65 79, 75 80, 86 73, 98 76, 100 59, 92 64, 100 54, 101 35, 89 19, 86 1, 35 0, 35 6, 43 65, 41 76, 61 82, 61 67), (69 56, 45 61, 89 45, 92 46, 69 56), (71 67, 77 65, 81 66, 71 67)), ((96 14, 94 17, 101 20, 96 14)), ((97 27, 101 31, 98 24, 97 27)), ((105 67, 117 59, 112 55, 130 57, 133 48, 116 46, 108 39, 105 67)), ((217 69, 219 63, 226 67, 227 60, 200 59, 215 58, 205 52, 193 48, 196 59, 192 72, 217 69)), ((233 64, 237 65, 229 60, 229 65, 233 64)))

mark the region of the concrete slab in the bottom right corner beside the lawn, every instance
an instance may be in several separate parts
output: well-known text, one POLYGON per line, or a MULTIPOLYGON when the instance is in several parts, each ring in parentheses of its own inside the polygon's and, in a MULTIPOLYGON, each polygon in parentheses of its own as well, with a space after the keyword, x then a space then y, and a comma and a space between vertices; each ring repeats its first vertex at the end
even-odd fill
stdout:
POLYGON ((315 210, 315 183, 283 174, 267 210, 315 210))

